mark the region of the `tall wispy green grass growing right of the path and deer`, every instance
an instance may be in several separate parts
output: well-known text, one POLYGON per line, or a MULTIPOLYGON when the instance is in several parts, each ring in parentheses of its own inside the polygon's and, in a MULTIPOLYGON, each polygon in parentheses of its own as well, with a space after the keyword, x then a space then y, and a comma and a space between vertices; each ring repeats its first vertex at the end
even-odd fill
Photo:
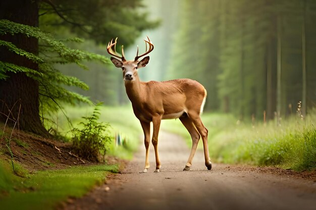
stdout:
MULTIPOLYGON (((222 162, 272 165, 295 171, 316 169, 316 131, 311 121, 297 123, 291 118, 281 127, 271 123, 243 127, 233 133, 227 143, 231 147, 223 147, 215 157, 222 162)), ((220 141, 215 136, 210 145, 219 145, 220 141)))

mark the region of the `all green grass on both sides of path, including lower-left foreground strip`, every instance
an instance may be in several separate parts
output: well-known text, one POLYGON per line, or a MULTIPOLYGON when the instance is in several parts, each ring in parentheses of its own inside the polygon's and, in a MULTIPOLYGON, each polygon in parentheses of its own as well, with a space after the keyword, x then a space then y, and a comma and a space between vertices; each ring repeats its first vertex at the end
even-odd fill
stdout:
MULTIPOLYGON (((66 108, 67 114, 78 125, 82 116, 89 116, 93 107, 66 108)), ((116 146, 113 141, 109 154, 131 158, 142 134, 139 121, 128 107, 102 107, 100 120, 112 126, 113 138, 121 133, 128 144, 116 146)), ((58 117, 58 131, 70 135, 62 114, 58 117), (63 128, 63 129, 62 129, 63 128)), ((205 113, 202 115, 208 129, 209 151, 212 161, 244 163, 251 165, 274 165, 296 171, 316 169, 316 111, 303 121, 298 117, 283 120, 281 126, 274 121, 264 125, 256 123, 236 124, 232 115, 205 113)), ((189 133, 180 120, 163 120, 161 129, 177 133, 191 147, 189 133)), ((24 142, 13 139, 17 145, 27 148, 24 142)), ((199 148, 201 147, 201 141, 199 148)), ((46 162, 47 165, 52 163, 46 162)), ((117 172, 117 166, 78 166, 64 170, 46 170, 29 174, 15 163, 17 176, 12 173, 9 162, 0 163, 1 209, 54 209, 56 204, 69 196, 80 197, 94 185, 102 183, 109 172, 117 172), (17 202, 17 200, 19 202, 17 202)))

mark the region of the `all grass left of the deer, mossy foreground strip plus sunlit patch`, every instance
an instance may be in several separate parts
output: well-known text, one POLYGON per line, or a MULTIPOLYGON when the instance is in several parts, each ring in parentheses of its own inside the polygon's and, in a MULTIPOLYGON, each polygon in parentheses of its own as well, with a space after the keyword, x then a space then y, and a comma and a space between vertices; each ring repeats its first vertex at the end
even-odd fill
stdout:
MULTIPOLYGON (((73 126, 80 127, 83 116, 90 116, 93 106, 73 108, 67 107, 68 117, 73 126)), ((111 123, 114 137, 120 133, 128 144, 116 146, 113 141, 108 155, 129 159, 138 147, 141 127, 129 107, 102 107, 100 121, 111 123)), ((57 115, 58 131, 64 136, 71 136, 67 120, 57 115)), ((51 125, 46 124, 46 127, 51 125)), ((70 138, 69 138, 70 139, 70 138)), ((12 139, 18 146, 28 148, 29 145, 20 139, 12 139)), ((40 152, 33 152, 34 155, 40 152)), ((15 175, 8 161, 0 162, 0 209, 55 209, 61 201, 69 197, 81 197, 94 185, 104 181, 109 172, 118 172, 117 166, 94 165, 78 166, 63 170, 46 170, 30 174, 14 160, 15 175)), ((54 167, 54 163, 44 162, 43 165, 54 167)))

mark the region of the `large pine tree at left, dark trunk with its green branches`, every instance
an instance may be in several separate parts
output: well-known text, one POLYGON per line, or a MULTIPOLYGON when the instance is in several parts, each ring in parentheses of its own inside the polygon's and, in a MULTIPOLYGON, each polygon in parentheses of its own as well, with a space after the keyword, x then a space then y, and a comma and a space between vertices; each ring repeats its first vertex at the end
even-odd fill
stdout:
POLYGON ((62 84, 82 89, 88 87, 77 78, 61 74, 55 64, 75 63, 86 68, 84 60, 108 63, 108 58, 68 48, 62 41, 40 31, 39 6, 41 11, 47 10, 43 14, 56 13, 63 20, 60 24, 70 24, 73 31, 84 31, 86 37, 96 36, 96 41, 99 42, 110 40, 109 37, 116 33, 128 34, 124 36, 124 42, 130 43, 141 30, 157 26, 157 22, 145 20, 146 13, 138 13, 135 10, 141 6, 139 0, 129 3, 110 1, 103 2, 104 4, 99 1, 54 3, 49 0, 14 0, 0 3, 0 120, 6 122, 9 116, 8 123, 18 120, 21 129, 43 136, 49 135, 43 127, 43 111, 56 110, 60 107, 60 101, 74 103, 75 100, 80 100, 91 103, 86 97, 64 88, 62 84), (94 13, 90 13, 91 9, 94 13), (106 10, 111 13, 104 13, 106 10), (116 16, 116 13, 121 11, 124 15, 116 16), (104 14, 110 15, 109 21, 106 25, 98 24, 104 17, 108 17, 104 14), (106 33, 109 34, 102 36, 106 33))

